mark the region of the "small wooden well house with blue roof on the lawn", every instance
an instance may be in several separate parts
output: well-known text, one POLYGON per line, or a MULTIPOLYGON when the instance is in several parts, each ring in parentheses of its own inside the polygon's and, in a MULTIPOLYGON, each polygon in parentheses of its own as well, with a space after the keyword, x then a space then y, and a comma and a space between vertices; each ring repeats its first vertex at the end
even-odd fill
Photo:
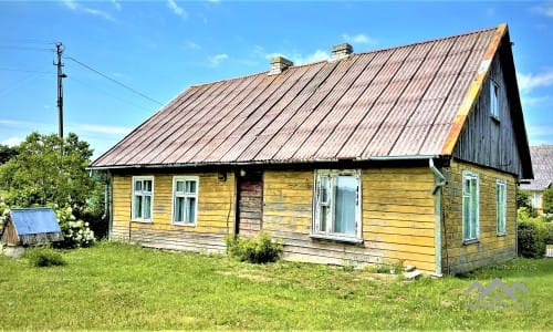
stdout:
POLYGON ((63 235, 51 208, 11 209, 3 225, 1 242, 4 246, 36 246, 63 240, 63 235))

